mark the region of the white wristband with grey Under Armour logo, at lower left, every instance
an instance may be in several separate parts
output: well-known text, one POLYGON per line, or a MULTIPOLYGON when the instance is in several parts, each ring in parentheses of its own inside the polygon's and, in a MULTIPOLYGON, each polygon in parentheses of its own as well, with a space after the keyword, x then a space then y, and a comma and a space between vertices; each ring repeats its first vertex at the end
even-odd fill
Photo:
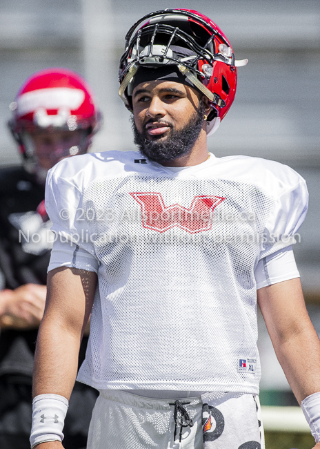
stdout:
POLYGON ((46 441, 62 441, 68 399, 59 394, 39 394, 32 401, 31 448, 46 441))

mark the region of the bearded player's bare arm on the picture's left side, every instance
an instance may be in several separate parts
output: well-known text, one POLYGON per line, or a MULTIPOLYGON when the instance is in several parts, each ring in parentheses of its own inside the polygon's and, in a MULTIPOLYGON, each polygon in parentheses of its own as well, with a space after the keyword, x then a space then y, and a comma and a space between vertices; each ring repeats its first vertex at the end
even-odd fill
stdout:
MULTIPOLYGON (((60 267, 48 273, 46 309, 34 359, 33 396, 59 394, 70 399, 77 376, 81 338, 92 309, 97 275, 60 267)), ((62 448, 59 441, 34 446, 62 448)))

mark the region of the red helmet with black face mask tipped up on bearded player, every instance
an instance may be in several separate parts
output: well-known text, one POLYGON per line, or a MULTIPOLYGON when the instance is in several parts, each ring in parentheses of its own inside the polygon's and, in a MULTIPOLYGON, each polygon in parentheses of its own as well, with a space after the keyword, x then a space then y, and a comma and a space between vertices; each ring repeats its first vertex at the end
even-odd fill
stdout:
POLYGON ((217 130, 237 88, 237 66, 230 42, 208 17, 194 10, 166 9, 144 16, 126 35, 119 68, 119 95, 131 111, 130 82, 140 66, 175 65, 194 88, 210 99, 207 134, 217 130))

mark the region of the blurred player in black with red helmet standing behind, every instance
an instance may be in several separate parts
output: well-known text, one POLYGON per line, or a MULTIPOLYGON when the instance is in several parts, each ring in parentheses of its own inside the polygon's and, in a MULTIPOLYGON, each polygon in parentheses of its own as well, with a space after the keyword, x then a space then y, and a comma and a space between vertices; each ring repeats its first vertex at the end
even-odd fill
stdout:
MULTIPOLYGON (((34 73, 10 110, 23 164, 0 171, 0 447, 24 449, 30 448, 34 346, 53 235, 44 207, 46 174, 64 157, 88 151, 101 113, 84 79, 64 68, 34 73)), ((86 343, 87 337, 80 362, 86 343)), ((96 397, 83 384, 74 390, 66 448, 86 447, 96 397)))

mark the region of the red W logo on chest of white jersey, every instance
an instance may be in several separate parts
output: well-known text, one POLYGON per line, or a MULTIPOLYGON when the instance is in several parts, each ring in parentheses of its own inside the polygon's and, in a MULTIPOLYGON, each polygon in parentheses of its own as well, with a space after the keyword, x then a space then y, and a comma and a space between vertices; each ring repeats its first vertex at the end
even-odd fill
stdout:
POLYGON ((141 206, 144 228, 164 232, 177 226, 192 234, 212 228, 213 209, 226 199, 213 195, 195 196, 187 209, 180 204, 166 207, 161 193, 132 192, 130 195, 141 206))

